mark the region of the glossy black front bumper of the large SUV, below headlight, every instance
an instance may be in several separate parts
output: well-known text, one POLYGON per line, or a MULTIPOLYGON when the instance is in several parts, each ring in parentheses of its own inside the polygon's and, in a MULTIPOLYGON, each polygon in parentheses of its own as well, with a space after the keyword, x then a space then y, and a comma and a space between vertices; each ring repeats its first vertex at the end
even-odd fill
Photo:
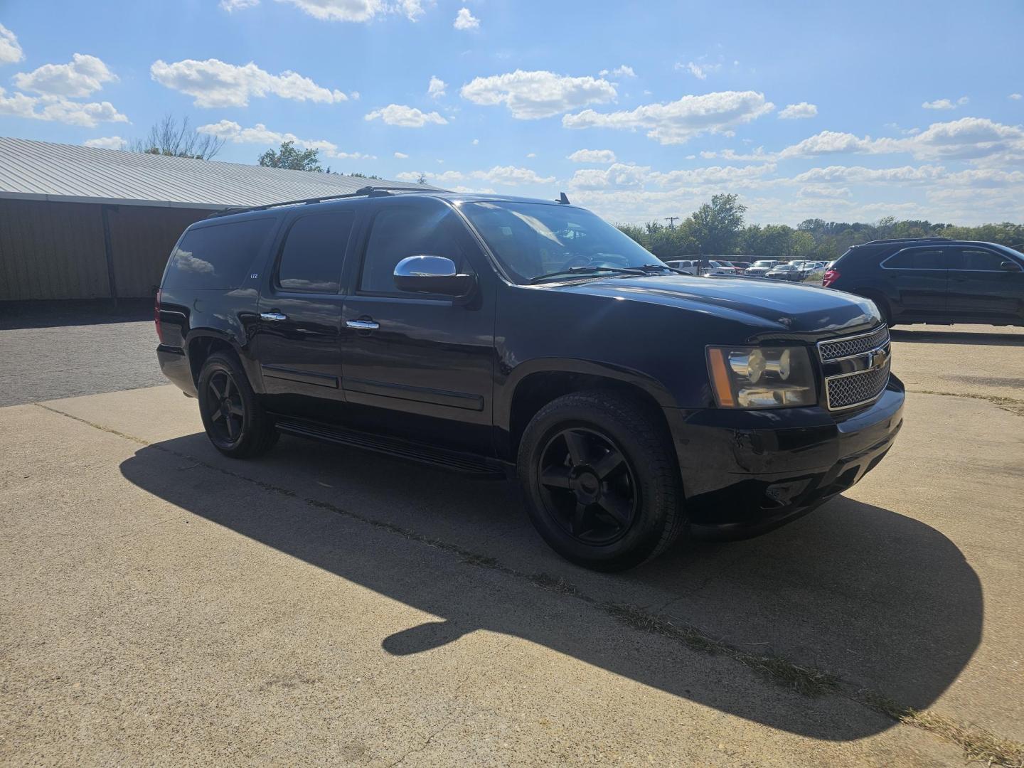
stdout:
POLYGON ((891 376, 878 400, 850 414, 666 409, 688 522, 743 538, 810 512, 882 461, 903 426, 904 396, 891 376))

